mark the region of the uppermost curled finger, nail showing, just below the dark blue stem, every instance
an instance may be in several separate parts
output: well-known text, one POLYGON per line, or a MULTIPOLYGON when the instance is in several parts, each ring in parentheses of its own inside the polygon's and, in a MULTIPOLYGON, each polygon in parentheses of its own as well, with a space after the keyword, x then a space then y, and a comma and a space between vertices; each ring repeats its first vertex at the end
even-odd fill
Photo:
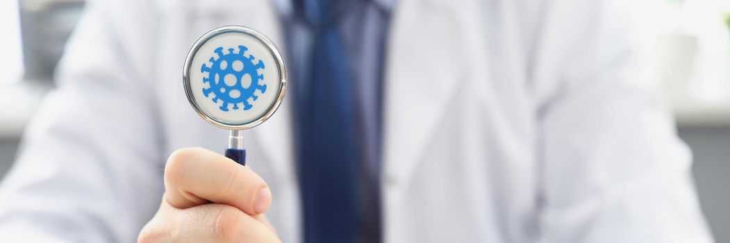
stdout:
POLYGON ((209 201, 258 215, 272 202, 269 185, 247 166, 201 148, 177 150, 165 166, 165 199, 185 209, 209 201))

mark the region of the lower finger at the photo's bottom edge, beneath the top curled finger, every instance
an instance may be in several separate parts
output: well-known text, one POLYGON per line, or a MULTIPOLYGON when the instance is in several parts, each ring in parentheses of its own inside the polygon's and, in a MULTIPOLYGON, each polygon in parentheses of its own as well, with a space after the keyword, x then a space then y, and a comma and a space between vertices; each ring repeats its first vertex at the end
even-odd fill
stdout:
POLYGON ((138 242, 280 242, 264 223, 226 204, 170 207, 161 214, 145 225, 138 242))

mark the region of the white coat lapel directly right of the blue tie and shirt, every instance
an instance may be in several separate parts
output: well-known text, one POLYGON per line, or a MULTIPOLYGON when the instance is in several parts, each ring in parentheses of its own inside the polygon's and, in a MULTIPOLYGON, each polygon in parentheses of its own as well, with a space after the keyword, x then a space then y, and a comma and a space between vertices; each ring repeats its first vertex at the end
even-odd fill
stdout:
POLYGON ((445 109, 463 69, 453 3, 401 0, 391 22, 384 90, 384 178, 407 183, 445 109))

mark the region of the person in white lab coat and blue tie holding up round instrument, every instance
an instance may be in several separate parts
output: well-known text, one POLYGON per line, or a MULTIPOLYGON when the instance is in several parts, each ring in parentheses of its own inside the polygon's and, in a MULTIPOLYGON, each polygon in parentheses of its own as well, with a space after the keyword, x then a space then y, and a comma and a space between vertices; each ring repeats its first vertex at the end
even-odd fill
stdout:
POLYGON ((88 3, 1 185, 1 241, 712 240, 612 1, 318 2, 88 3), (226 24, 292 68, 246 167, 180 85, 226 24))

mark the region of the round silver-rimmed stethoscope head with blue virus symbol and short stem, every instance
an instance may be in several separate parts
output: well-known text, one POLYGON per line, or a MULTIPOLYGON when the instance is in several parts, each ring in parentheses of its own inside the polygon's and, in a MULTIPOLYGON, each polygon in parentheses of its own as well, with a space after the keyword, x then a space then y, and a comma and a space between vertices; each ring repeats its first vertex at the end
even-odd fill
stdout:
POLYGON ((245 165, 242 131, 264 123, 279 107, 286 67, 264 34, 223 26, 195 42, 185 58, 183 85, 200 117, 231 131, 226 157, 245 165))

